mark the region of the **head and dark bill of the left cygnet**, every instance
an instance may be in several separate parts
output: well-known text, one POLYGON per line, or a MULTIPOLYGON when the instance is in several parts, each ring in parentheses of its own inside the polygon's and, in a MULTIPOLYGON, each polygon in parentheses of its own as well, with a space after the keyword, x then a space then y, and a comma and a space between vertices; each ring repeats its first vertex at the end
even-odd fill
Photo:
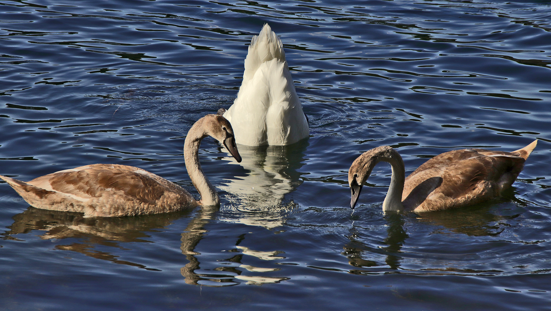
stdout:
POLYGON ((219 142, 223 143, 224 147, 233 155, 237 162, 241 162, 241 155, 237 151, 235 145, 234 130, 226 118, 218 114, 207 114, 203 118, 203 129, 206 135, 214 137, 219 142))

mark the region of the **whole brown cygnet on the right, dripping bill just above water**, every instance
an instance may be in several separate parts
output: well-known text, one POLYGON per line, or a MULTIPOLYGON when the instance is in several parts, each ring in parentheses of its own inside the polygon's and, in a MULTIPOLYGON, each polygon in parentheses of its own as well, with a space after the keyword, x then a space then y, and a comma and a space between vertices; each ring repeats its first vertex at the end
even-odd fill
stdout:
POLYGON ((428 212, 498 198, 520 174, 537 142, 513 152, 485 149, 445 152, 419 166, 405 180, 404 162, 395 149, 390 146, 371 149, 355 159, 348 170, 350 207, 354 208, 361 187, 381 161, 392 165, 390 187, 382 203, 385 211, 428 212))

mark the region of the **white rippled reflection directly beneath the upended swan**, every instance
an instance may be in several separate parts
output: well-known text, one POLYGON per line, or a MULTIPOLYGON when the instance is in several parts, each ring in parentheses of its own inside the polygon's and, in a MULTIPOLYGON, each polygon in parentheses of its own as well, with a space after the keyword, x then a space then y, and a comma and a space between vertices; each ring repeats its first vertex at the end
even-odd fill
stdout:
POLYGON ((302 184, 297 170, 304 165, 308 145, 301 141, 289 146, 237 146, 241 163, 232 157, 225 160, 243 166, 249 173, 219 186, 228 192, 226 199, 230 201, 220 210, 220 219, 268 229, 282 225, 296 207, 292 200, 285 200, 285 195, 302 184))

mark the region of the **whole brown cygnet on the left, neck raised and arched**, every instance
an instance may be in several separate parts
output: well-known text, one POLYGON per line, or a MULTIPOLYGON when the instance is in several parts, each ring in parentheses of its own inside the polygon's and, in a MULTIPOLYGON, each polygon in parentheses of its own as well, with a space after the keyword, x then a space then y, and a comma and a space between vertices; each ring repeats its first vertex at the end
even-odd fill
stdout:
POLYGON ((199 144, 212 136, 241 162, 228 120, 209 114, 188 131, 183 146, 186 169, 201 195, 196 201, 184 188, 134 166, 92 164, 37 177, 29 182, 1 176, 31 206, 84 213, 84 217, 128 216, 217 206, 220 199, 199 164, 199 144))

